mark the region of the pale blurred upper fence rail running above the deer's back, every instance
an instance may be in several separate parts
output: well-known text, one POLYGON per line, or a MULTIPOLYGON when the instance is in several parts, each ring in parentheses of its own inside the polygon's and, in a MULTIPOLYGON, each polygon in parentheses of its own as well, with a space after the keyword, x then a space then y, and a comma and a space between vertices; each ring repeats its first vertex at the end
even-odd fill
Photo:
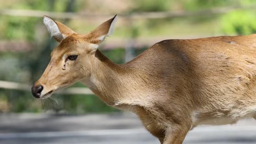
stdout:
MULTIPOLYGON (((203 15, 213 15, 213 14, 225 14, 230 11, 237 9, 255 9, 256 5, 249 5, 247 7, 226 7, 226 8, 213 8, 199 11, 166 11, 166 12, 147 12, 147 13, 131 13, 131 14, 120 14, 119 17, 129 18, 129 19, 162 19, 162 18, 172 18, 172 17, 185 17, 185 16, 203 16, 203 15)), ((87 14, 87 13, 60 13, 60 12, 50 12, 50 11, 40 11, 40 10, 18 10, 18 9, 1 9, 0 15, 9 16, 26 16, 26 17, 42 17, 43 15, 48 15, 50 17, 59 19, 79 19, 86 17, 86 19, 104 18, 107 19, 112 17, 114 14, 87 14)))

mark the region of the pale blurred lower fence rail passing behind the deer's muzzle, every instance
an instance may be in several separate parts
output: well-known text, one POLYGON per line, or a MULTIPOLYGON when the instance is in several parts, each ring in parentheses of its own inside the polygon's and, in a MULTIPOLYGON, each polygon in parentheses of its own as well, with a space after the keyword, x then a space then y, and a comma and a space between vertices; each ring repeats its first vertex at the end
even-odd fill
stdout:
MULTIPOLYGON (((0 88, 3 89, 13 89, 13 90, 20 90, 20 91, 31 91, 31 85, 25 83, 18 83, 18 82, 9 82, 9 81, 0 81, 0 88)), ((84 87, 70 87, 56 93, 60 94, 94 94, 89 88, 84 87)))

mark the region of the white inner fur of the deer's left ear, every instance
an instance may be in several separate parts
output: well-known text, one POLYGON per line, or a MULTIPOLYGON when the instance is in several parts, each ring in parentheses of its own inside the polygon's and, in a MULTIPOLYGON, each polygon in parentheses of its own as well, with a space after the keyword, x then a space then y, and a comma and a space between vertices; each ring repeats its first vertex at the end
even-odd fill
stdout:
POLYGON ((57 26, 57 23, 51 19, 50 17, 44 16, 43 17, 44 25, 47 27, 49 33, 51 34, 51 37, 54 37, 57 40, 65 39, 66 36, 60 32, 59 27, 57 26))

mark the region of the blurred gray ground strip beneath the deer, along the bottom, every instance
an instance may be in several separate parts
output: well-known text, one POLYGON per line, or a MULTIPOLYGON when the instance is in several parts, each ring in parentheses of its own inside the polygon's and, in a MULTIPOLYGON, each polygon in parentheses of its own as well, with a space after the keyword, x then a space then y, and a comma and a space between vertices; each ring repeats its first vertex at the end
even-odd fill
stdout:
MULTIPOLYGON (((0 115, 0 143, 138 143, 159 141, 131 113, 112 115, 0 115)), ((190 131, 184 143, 256 143, 256 121, 203 126, 190 131)))

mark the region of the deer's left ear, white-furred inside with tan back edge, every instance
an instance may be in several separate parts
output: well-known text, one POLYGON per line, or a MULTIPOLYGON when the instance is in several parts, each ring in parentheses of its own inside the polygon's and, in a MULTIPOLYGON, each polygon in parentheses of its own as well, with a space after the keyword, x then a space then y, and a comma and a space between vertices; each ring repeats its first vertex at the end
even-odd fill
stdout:
POLYGON ((61 42, 61 40, 67 38, 68 35, 75 34, 72 29, 58 21, 51 19, 48 16, 43 17, 43 22, 51 36, 54 37, 54 39, 57 40, 59 43, 61 42))

